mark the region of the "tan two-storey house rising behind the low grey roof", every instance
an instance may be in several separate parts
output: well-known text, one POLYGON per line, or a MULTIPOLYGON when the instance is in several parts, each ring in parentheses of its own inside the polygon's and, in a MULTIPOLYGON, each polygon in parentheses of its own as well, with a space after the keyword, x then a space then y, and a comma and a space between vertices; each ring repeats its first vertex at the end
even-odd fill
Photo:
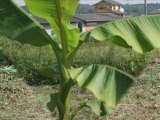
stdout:
POLYGON ((124 16, 125 12, 122 4, 113 0, 101 0, 95 4, 95 14, 99 13, 114 13, 119 16, 124 16))

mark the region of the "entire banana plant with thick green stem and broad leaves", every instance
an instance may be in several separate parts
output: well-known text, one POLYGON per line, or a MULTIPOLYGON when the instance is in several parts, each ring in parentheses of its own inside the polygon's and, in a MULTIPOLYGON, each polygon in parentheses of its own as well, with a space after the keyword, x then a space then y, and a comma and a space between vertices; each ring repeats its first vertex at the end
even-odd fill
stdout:
POLYGON ((84 107, 91 108, 100 116, 112 113, 134 81, 133 76, 109 65, 73 67, 74 56, 83 42, 94 38, 139 53, 160 48, 160 16, 115 20, 80 33, 79 28, 70 24, 79 0, 24 1, 33 15, 48 21, 54 37, 12 0, 0 0, 0 34, 23 44, 52 46, 57 64, 49 66, 46 72, 58 75, 59 92, 41 95, 40 99, 51 112, 57 108, 59 120, 72 120, 84 107), (76 84, 91 91, 96 100, 83 101, 71 109, 71 88, 76 84))

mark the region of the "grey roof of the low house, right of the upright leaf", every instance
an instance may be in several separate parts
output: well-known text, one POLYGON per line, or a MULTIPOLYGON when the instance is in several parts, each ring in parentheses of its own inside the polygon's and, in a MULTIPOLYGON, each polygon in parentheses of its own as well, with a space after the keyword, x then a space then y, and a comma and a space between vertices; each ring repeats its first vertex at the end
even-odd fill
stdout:
POLYGON ((115 19, 120 19, 121 17, 112 13, 105 14, 77 14, 74 18, 89 23, 89 22, 108 22, 115 19))

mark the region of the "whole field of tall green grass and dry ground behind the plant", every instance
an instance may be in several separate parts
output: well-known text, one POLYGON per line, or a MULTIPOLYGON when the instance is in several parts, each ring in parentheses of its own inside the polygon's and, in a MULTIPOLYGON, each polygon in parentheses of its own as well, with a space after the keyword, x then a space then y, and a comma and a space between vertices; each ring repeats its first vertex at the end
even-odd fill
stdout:
MULTIPOLYGON (((159 59, 158 50, 141 55, 111 43, 83 44, 75 57, 75 67, 109 64, 137 79, 112 115, 99 118, 90 109, 83 109, 75 120, 160 120, 159 59)), ((50 46, 36 48, 0 37, 0 120, 57 119, 57 112, 49 113, 38 99, 39 94, 58 89, 54 76, 42 72, 46 65, 55 63, 50 46)), ((72 107, 81 100, 94 99, 78 86, 73 87, 72 93, 72 107)))

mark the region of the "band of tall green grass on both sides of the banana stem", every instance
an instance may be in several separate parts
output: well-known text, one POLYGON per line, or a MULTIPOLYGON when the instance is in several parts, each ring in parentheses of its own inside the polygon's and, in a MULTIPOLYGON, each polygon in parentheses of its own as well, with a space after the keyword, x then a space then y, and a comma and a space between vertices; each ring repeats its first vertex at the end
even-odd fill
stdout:
MULTIPOLYGON (((2 36, 0 37, 0 45, 1 58, 5 59, 5 61, 1 61, 1 64, 16 66, 18 72, 30 85, 45 84, 44 82, 47 84, 49 81, 52 81, 49 84, 56 82, 53 80, 56 78, 52 79, 50 76, 42 73, 44 67, 57 63, 50 46, 39 48, 31 45, 23 45, 2 36)), ((74 58, 73 66, 80 67, 93 63, 108 64, 130 74, 138 75, 147 65, 148 60, 154 56, 138 54, 131 50, 122 49, 112 43, 93 41, 84 43, 80 47, 74 58), (116 54, 117 52, 119 54, 116 54)))

